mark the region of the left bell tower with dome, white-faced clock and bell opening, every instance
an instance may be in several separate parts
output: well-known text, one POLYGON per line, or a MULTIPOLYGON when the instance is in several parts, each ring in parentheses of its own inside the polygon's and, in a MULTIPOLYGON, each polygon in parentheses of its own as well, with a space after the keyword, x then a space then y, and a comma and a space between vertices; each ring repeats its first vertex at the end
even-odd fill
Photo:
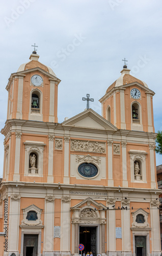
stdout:
POLYGON ((11 74, 7 84, 7 119, 58 122, 58 84, 51 68, 38 61, 36 51, 30 61, 11 74))

